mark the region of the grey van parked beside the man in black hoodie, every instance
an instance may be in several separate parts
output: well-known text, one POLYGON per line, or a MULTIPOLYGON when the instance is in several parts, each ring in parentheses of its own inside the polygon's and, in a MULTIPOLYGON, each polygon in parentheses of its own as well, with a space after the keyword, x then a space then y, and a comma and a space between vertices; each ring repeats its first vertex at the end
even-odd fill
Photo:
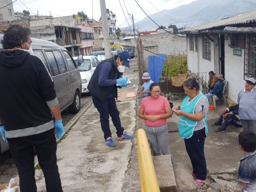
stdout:
MULTIPOLYGON (((0 40, 2 39, 3 35, 0 35, 0 40)), ((38 38, 31 38, 31 40, 35 56, 44 62, 54 81, 61 111, 68 108, 70 113, 78 113, 82 84, 80 72, 72 56, 67 49, 53 42, 38 38)), ((2 44, 0 44, 0 51, 3 51, 2 44)), ((0 136, 0 154, 8 148, 8 143, 0 136)))

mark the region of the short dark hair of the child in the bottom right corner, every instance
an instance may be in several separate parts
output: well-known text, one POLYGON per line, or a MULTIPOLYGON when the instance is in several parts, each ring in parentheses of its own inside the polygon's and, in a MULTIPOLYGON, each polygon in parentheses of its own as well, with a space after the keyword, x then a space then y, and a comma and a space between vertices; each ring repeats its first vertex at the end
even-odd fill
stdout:
POLYGON ((256 149, 256 135, 253 131, 242 131, 238 135, 238 144, 244 151, 254 152, 256 149))

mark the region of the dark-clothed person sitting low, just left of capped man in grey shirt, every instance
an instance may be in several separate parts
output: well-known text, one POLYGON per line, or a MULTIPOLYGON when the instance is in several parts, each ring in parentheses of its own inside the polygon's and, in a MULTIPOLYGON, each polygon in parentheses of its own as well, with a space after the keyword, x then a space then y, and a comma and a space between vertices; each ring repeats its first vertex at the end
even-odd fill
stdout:
POLYGON ((212 126, 221 125, 215 132, 225 132, 228 125, 235 125, 236 127, 243 127, 241 120, 237 118, 239 105, 231 106, 230 108, 226 108, 223 111, 223 114, 220 115, 217 122, 215 122, 212 126))

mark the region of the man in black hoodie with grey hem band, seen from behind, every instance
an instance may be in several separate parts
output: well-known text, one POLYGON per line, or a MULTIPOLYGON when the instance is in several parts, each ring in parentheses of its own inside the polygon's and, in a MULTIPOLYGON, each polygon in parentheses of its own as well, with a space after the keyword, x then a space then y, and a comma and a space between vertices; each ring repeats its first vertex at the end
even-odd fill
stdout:
POLYGON ((0 132, 19 172, 21 192, 36 192, 34 148, 47 192, 61 192, 56 138, 64 134, 54 83, 44 63, 29 53, 30 30, 10 26, 0 52, 0 132), (54 120, 52 119, 54 116, 54 120))

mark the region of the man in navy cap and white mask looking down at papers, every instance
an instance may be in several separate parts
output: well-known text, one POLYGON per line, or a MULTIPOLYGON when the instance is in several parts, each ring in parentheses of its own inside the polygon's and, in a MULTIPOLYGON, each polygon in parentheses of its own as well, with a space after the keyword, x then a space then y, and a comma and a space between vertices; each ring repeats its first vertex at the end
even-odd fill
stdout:
POLYGON ((130 59, 129 52, 123 51, 113 58, 101 61, 88 84, 88 90, 92 93, 93 104, 100 113, 100 125, 104 132, 105 143, 109 147, 115 146, 109 127, 109 115, 116 127, 118 140, 131 140, 133 138, 133 136, 124 133, 115 100, 115 98, 117 99, 116 84, 121 84, 121 88, 127 86, 128 79, 121 76, 125 67, 130 68, 130 59))

